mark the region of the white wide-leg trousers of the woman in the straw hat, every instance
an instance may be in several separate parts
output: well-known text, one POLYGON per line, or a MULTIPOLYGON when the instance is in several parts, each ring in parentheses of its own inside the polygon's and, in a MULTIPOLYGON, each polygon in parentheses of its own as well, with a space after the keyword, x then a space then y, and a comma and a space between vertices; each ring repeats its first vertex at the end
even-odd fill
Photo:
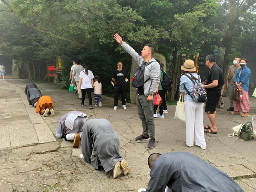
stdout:
POLYGON ((186 145, 194 146, 194 137, 196 145, 206 147, 204 139, 204 104, 189 101, 184 102, 186 115, 186 145))

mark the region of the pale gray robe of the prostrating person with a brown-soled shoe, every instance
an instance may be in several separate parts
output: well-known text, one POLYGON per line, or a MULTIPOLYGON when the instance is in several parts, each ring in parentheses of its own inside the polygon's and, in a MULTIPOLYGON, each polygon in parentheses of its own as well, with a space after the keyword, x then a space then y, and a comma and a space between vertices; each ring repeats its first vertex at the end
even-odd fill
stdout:
POLYGON ((55 136, 56 138, 62 138, 62 136, 70 133, 78 133, 82 132, 83 126, 86 122, 86 114, 80 111, 70 111, 62 116, 58 122, 58 128, 56 130, 55 136), (67 128, 65 125, 65 120, 68 116, 72 114, 74 116, 74 125, 72 128, 67 128))

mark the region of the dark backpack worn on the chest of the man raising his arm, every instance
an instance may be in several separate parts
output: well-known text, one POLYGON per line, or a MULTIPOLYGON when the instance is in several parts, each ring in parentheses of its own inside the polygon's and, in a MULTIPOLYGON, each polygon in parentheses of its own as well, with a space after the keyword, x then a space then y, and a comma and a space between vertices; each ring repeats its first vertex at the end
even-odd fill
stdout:
POLYGON ((137 67, 134 71, 134 75, 132 77, 132 86, 135 87, 135 88, 140 88, 142 86, 144 86, 144 83, 146 83, 148 80, 150 80, 150 78, 148 78, 146 81, 144 81, 144 68, 151 64, 152 62, 154 61, 150 61, 150 62, 147 62, 146 65, 144 65, 144 63, 137 67))

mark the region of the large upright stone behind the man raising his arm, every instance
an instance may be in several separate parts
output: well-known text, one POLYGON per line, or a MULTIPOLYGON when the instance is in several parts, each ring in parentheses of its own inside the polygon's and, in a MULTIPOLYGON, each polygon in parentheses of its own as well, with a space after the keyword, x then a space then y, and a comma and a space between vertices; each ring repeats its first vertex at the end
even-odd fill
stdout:
MULTIPOLYGON (((165 57, 159 53, 154 53, 153 58, 158 59, 160 61, 160 63, 164 64, 164 71, 165 71, 165 68, 166 68, 165 57)), ((137 67, 138 67, 138 64, 134 61, 134 59, 132 59, 130 78, 132 78, 134 71, 137 67)), ((130 98, 131 98, 132 104, 136 104, 136 94, 137 94, 136 88, 134 88, 132 86, 132 82, 130 82, 130 98)))

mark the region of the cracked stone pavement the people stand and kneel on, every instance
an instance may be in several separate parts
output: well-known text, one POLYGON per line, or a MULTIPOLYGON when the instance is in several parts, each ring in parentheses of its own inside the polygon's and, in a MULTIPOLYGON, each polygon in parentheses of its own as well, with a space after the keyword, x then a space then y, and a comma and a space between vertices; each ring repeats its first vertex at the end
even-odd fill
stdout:
MULTIPOLYGON (((156 147, 149 150, 147 142, 135 142, 141 134, 141 122, 136 106, 127 104, 127 110, 113 100, 102 96, 102 108, 89 110, 79 105, 76 94, 48 82, 36 82, 43 95, 54 100, 56 116, 43 117, 28 105, 25 80, 8 79, 0 82, 0 191, 108 191, 136 192, 147 187, 150 169, 149 154, 186 151, 199 156, 226 172, 247 192, 256 191, 255 140, 240 141, 228 138, 232 127, 251 120, 232 116, 224 109, 217 110, 218 134, 206 134, 207 149, 188 148, 185 144, 185 123, 174 119, 175 106, 168 106, 164 119, 156 119, 156 147), (59 118, 70 110, 80 110, 91 118, 108 119, 120 137, 120 153, 131 166, 130 174, 112 178, 112 173, 94 170, 78 158, 80 148, 72 142, 56 139, 54 133, 59 118)), ((226 103, 228 98, 224 98, 226 103)), ((256 114, 256 98, 250 98, 250 114, 256 114)), ((205 124, 208 118, 204 116, 205 124)))

